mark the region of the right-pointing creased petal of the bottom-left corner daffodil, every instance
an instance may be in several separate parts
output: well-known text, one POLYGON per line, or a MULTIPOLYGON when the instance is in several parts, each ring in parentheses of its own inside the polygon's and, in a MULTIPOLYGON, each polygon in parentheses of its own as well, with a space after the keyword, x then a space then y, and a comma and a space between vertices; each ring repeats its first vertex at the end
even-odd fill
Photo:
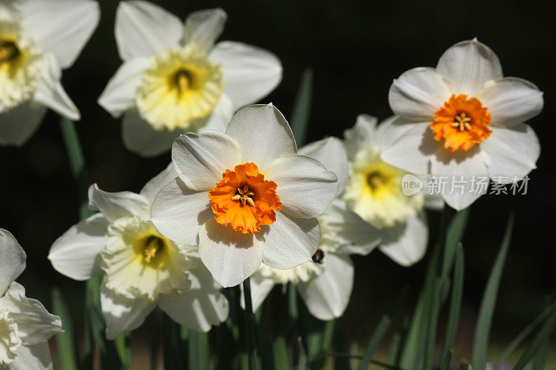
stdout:
POLYGON ((27 298, 25 288, 18 283, 10 285, 1 304, 17 322, 17 334, 25 346, 39 344, 63 332, 60 317, 49 314, 36 299, 27 298))

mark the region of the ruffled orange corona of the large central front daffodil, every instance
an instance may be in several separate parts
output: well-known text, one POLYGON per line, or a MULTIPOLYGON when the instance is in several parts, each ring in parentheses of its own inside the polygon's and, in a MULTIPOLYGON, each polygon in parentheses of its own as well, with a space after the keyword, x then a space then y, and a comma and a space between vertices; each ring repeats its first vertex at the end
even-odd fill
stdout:
POLYGON ((208 192, 208 199, 219 224, 254 234, 261 231, 261 226, 276 221, 275 211, 282 206, 276 188, 276 183, 265 180, 254 163, 244 163, 233 171, 227 169, 208 192))

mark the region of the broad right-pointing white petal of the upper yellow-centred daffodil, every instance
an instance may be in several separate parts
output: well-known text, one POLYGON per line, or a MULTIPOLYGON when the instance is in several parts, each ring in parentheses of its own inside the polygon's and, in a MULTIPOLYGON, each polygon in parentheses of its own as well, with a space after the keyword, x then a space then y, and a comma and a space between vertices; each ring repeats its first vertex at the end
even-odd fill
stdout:
POLYGON ((222 64, 224 93, 234 101, 236 110, 263 99, 282 78, 275 54, 241 42, 218 42, 208 58, 222 64))

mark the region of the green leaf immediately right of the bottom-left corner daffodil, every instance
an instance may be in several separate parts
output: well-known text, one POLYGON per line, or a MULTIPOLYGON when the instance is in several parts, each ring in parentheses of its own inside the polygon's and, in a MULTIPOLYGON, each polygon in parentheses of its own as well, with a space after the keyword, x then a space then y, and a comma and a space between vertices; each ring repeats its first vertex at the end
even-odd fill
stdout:
POLYGON ((60 317, 64 329, 63 333, 56 335, 61 366, 68 370, 79 369, 72 316, 58 287, 52 289, 52 312, 60 317))

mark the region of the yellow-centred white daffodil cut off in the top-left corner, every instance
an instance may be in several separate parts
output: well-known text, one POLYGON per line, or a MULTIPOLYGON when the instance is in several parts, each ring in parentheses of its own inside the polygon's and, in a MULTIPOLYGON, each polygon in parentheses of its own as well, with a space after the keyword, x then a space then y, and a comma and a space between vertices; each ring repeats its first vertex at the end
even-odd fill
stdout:
POLYGON ((24 144, 47 108, 70 119, 79 110, 60 83, 97 27, 90 0, 0 3, 0 144, 24 144))

